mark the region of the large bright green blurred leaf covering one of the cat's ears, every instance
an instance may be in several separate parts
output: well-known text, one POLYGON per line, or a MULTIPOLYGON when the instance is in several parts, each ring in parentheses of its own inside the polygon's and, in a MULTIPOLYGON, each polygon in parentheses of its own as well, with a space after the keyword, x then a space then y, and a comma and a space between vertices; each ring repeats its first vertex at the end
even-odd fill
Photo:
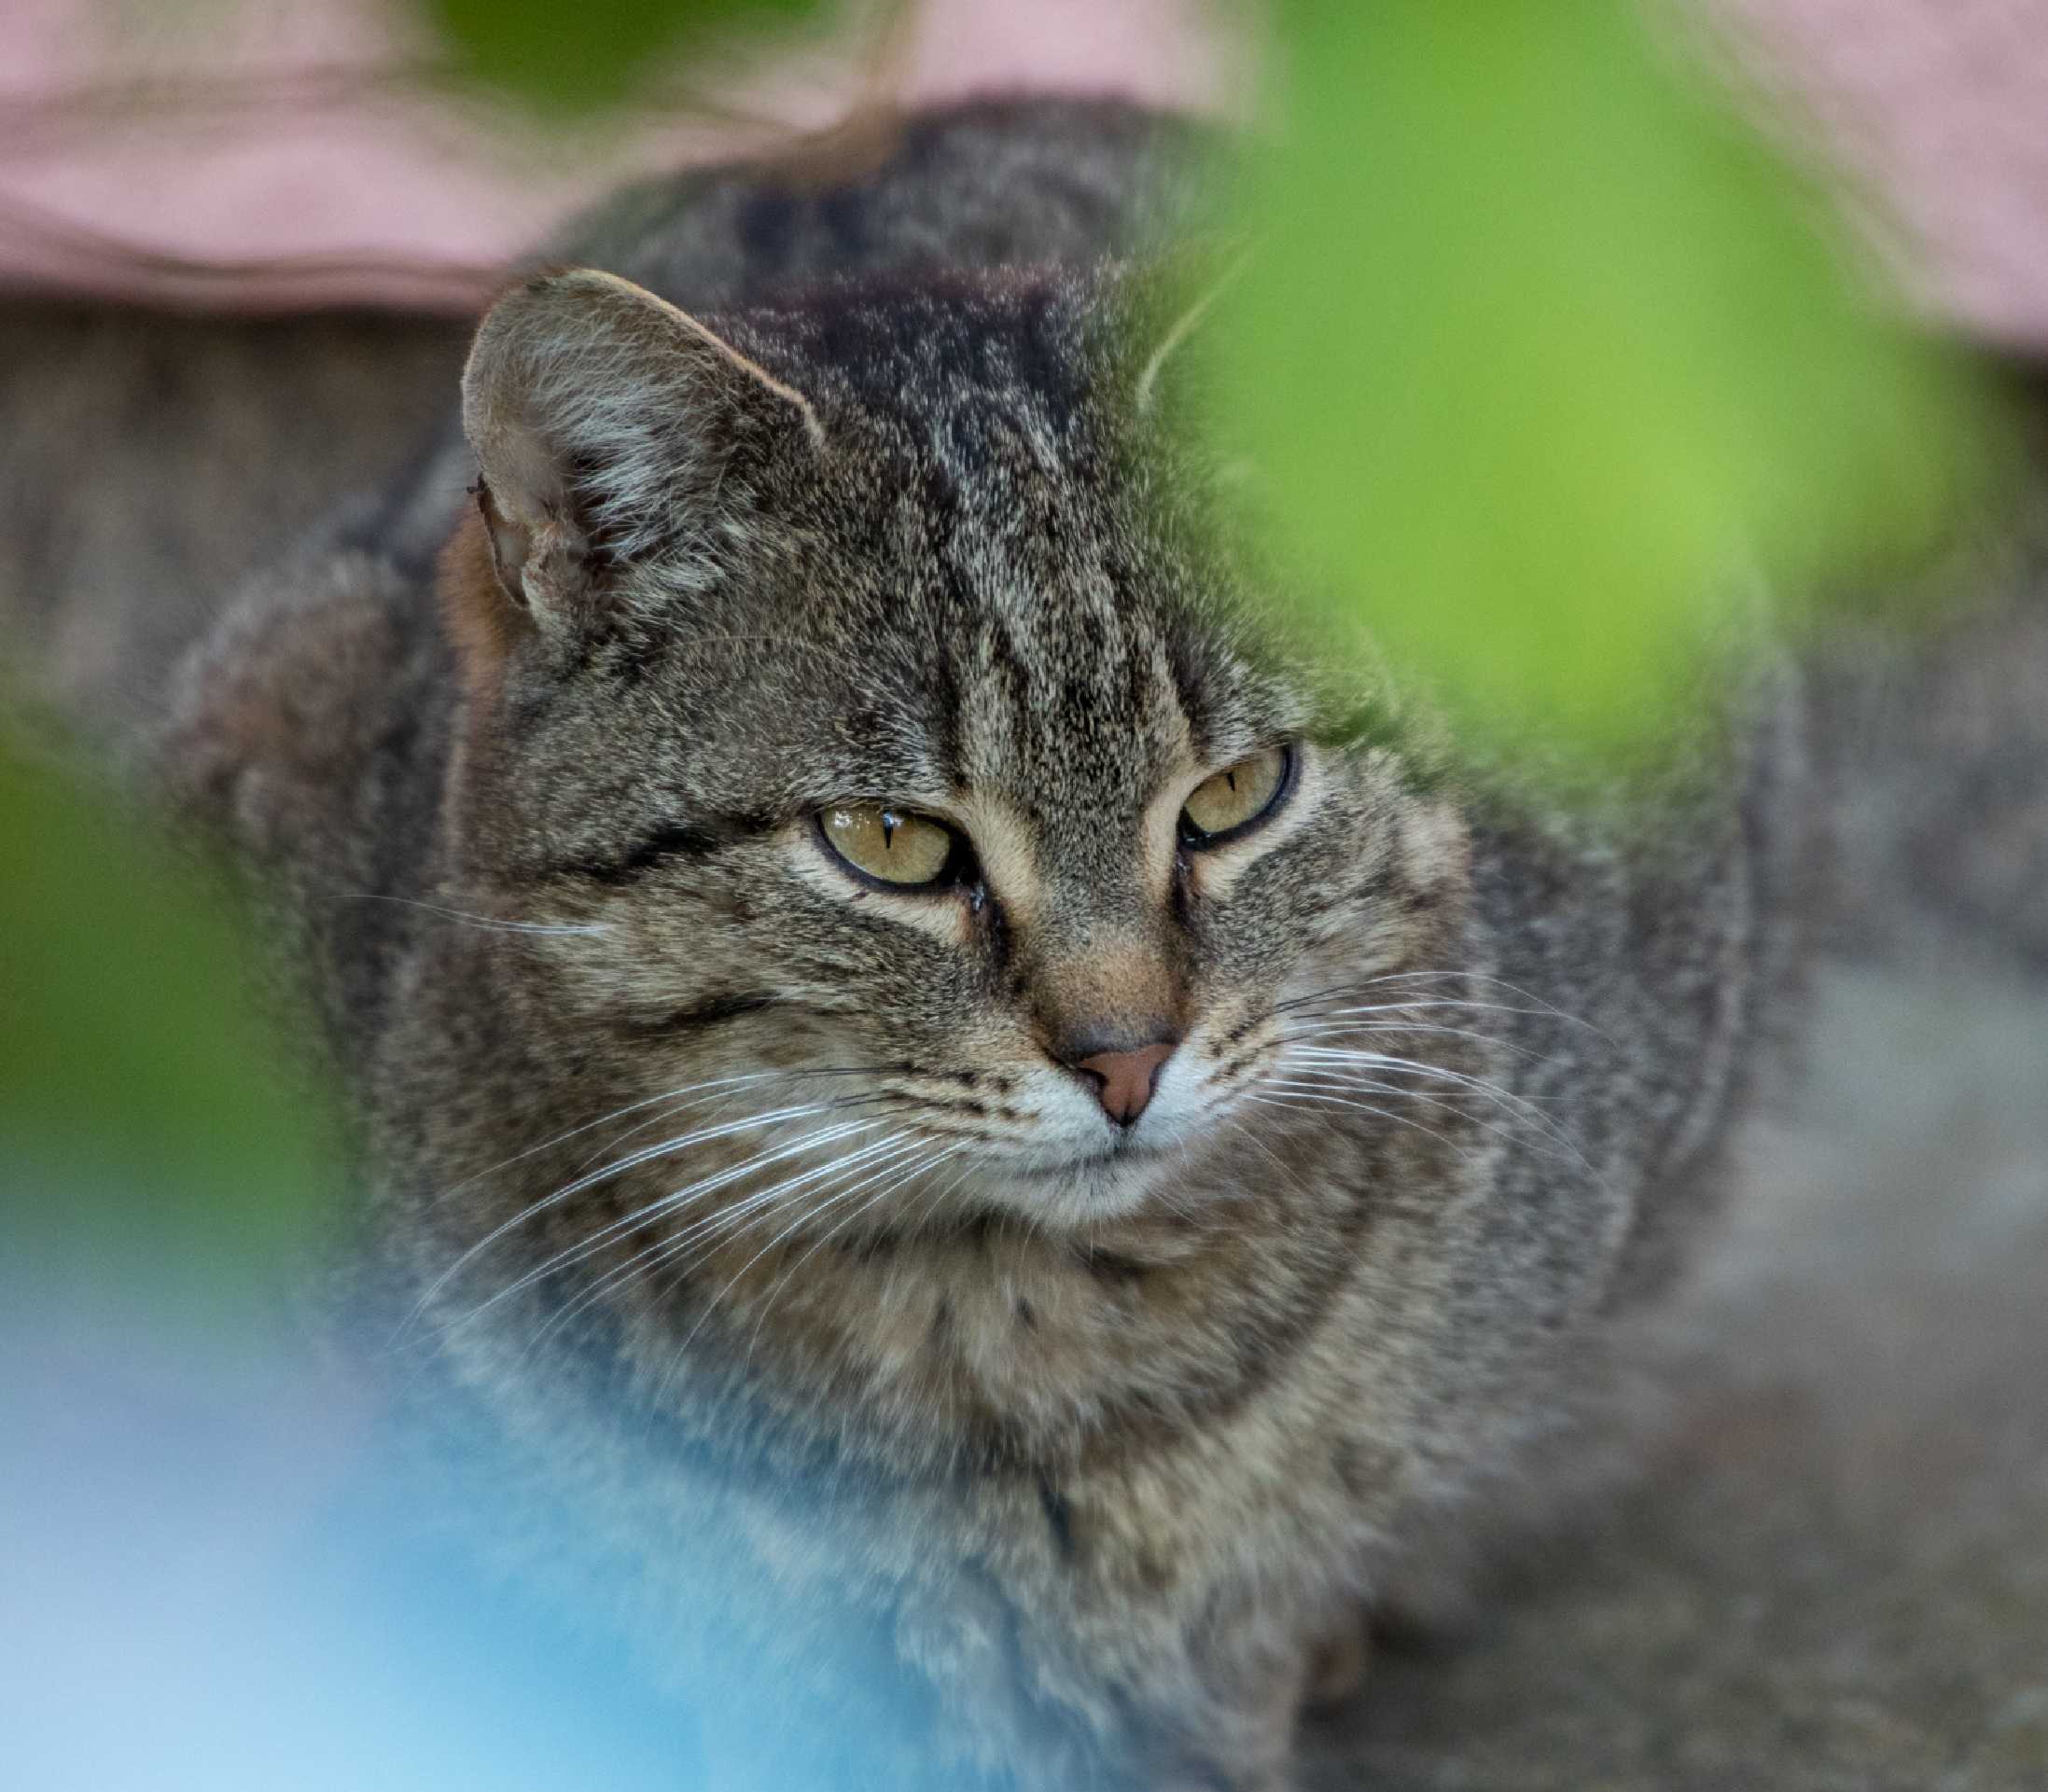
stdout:
POLYGON ((1280 0, 1223 426, 1333 621, 1464 735, 1606 760, 1733 604, 1927 547, 1987 465, 1815 188, 1624 0, 1280 0))

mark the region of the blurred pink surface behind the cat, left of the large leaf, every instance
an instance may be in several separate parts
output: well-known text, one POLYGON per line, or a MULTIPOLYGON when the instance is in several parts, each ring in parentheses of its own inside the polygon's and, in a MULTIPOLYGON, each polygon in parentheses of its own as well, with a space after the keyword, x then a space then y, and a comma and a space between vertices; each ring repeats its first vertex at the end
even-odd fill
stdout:
MULTIPOLYGON (((375 0, 225 14, 180 0, 182 35, 113 33, 137 16, 109 0, 0 12, 0 279, 238 309, 467 309, 498 264, 623 176, 834 123, 860 74, 842 35, 707 70, 715 104, 696 117, 537 141, 408 82, 424 45, 375 0)), ((936 0, 899 80, 913 98, 1057 88, 1212 109, 1239 96, 1237 63, 1194 0, 936 0)))

